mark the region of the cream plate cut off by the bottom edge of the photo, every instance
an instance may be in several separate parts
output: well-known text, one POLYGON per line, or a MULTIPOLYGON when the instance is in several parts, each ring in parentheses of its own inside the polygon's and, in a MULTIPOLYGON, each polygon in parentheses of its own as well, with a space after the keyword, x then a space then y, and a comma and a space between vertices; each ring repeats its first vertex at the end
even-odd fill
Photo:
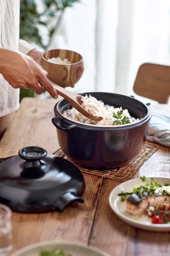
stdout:
POLYGON ((46 241, 28 245, 14 252, 11 256, 39 256, 40 248, 51 250, 54 247, 57 247, 57 249, 63 249, 72 256, 109 256, 107 253, 92 246, 86 246, 81 243, 55 241, 46 241))

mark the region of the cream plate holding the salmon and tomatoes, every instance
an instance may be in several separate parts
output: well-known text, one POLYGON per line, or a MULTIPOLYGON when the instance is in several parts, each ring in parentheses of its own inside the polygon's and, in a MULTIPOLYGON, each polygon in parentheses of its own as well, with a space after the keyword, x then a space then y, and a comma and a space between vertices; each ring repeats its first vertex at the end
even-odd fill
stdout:
MULTIPOLYGON (((164 186, 165 182, 170 183, 170 178, 159 178, 154 177, 154 181, 157 181, 159 184, 164 186)), ((169 224, 152 224, 151 218, 148 216, 133 216, 130 213, 126 211, 125 208, 125 202, 122 202, 120 200, 120 197, 118 194, 127 191, 132 191, 133 188, 137 188, 140 185, 145 185, 146 182, 150 182, 151 178, 147 177, 145 182, 142 182, 140 178, 138 179, 132 179, 127 182, 123 182, 117 187, 115 187, 110 195, 109 195, 109 204, 110 207, 113 209, 114 213, 124 222, 126 222, 129 225, 132 225, 135 228, 139 229, 145 229, 149 231, 160 231, 160 232, 168 232, 170 231, 170 223, 169 224)))

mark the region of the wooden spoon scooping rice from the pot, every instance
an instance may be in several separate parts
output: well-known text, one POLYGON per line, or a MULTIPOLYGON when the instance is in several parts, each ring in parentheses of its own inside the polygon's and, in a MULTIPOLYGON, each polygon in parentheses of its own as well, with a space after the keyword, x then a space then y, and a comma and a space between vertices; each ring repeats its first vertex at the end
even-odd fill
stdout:
POLYGON ((50 81, 50 82, 54 86, 54 88, 57 90, 57 93, 60 96, 62 96, 66 101, 68 101, 74 108, 76 108, 76 110, 79 111, 82 115, 85 115, 86 117, 88 117, 89 119, 94 120, 94 121, 102 120, 102 117, 96 117, 94 115, 91 115, 90 113, 88 113, 88 111, 86 111, 81 106, 81 104, 82 104, 82 101, 81 101, 82 96, 81 95, 67 91, 66 89, 53 83, 52 81, 50 81))

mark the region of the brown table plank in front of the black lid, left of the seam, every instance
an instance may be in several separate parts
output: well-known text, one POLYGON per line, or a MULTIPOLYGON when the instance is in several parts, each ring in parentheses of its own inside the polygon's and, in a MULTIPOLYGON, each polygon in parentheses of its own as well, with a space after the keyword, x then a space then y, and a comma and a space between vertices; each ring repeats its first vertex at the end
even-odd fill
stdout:
POLYGON ((13 250, 31 243, 42 241, 72 241, 88 244, 88 237, 93 226, 95 209, 101 190, 102 179, 84 174, 86 191, 84 203, 75 202, 62 213, 41 214, 14 213, 13 250))

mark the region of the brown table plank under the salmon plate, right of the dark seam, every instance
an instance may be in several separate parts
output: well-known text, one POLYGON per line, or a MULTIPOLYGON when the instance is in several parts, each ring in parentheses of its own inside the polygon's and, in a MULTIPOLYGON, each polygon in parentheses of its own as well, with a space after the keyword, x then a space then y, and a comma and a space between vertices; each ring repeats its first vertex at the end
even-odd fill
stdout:
POLYGON ((108 204, 108 196, 120 182, 106 179, 90 236, 90 244, 111 256, 168 256, 170 232, 149 232, 136 229, 122 222, 108 204))

